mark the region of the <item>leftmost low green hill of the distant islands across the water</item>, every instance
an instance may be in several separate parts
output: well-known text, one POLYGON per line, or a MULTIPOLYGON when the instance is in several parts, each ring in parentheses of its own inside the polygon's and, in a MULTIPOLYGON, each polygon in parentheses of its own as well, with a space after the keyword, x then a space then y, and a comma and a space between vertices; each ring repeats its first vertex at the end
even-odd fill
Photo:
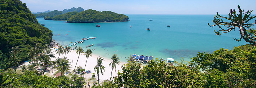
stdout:
POLYGON ((57 10, 54 10, 54 11, 50 11, 50 12, 43 12, 43 13, 40 13, 40 14, 35 14, 36 17, 46 17, 46 16, 50 16, 50 17, 54 17, 54 16, 57 16, 57 15, 61 15, 62 12, 61 11, 57 11, 57 10))

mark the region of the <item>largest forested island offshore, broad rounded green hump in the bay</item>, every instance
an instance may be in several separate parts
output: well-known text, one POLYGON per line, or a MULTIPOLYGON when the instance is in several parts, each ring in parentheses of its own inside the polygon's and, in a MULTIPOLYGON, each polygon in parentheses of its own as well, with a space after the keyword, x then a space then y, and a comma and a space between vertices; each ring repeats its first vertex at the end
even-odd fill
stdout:
POLYGON ((111 11, 85 10, 67 19, 68 23, 92 23, 92 22, 114 22, 128 21, 128 16, 116 14, 111 11))

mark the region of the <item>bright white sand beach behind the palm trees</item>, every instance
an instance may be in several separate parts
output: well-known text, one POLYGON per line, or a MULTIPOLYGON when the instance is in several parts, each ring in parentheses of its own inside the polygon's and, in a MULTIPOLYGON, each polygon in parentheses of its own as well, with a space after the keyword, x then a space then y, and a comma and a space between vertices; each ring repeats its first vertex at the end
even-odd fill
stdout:
MULTIPOLYGON (((51 49, 52 49, 52 51, 55 51, 54 48, 51 48, 51 49)), ((78 59, 78 54, 76 54, 75 52, 76 52, 76 49, 71 50, 71 52, 69 54, 66 54, 66 56, 65 56, 65 57, 67 57, 67 59, 69 59, 69 62, 71 64, 71 68, 69 70, 69 72, 71 72, 71 73, 72 73, 72 70, 74 70, 76 63, 77 63, 77 67, 81 66, 84 69, 85 62, 86 62, 86 56, 84 54, 80 55, 79 59, 78 59), (78 59, 78 62, 77 62, 77 59, 78 59)), ((54 52, 54 54, 56 54, 56 52, 54 52)), ((56 54, 55 56, 58 57, 58 54, 56 54)), ((60 58, 64 58, 64 54, 60 55, 60 58)), ((94 70, 94 67, 97 65, 97 58, 100 58, 100 57, 99 57, 99 55, 95 55, 95 54, 92 54, 92 56, 90 56, 88 58, 85 70, 90 70, 91 72, 89 74, 82 75, 82 77, 84 76, 85 79, 89 79, 92 77, 92 73, 95 73, 95 76, 96 76, 95 78, 96 79, 98 78, 98 76, 96 75, 96 72, 94 70)), ((102 57, 102 58, 104 58, 104 57, 102 57)), ((54 61, 54 60, 56 60, 56 58, 51 58, 51 60, 54 61)), ((112 70, 112 68, 109 66, 109 63, 111 63, 110 58, 104 58, 104 61, 102 63, 103 63, 103 66, 105 67, 105 71, 103 72, 103 75, 101 73, 99 75, 100 83, 103 80, 110 79, 111 70, 112 70)), ((113 69, 112 77, 118 76, 118 74, 117 74, 118 70, 122 71, 121 65, 124 65, 124 62, 120 62, 120 64, 117 65, 116 72, 115 72, 115 69, 113 69)), ((77 69, 77 67, 76 67, 76 69, 77 69)), ((50 75, 53 75, 54 72, 57 71, 57 69, 51 69, 51 71, 52 70, 53 70, 53 73, 50 72, 50 75)), ((64 75, 68 75, 68 74, 64 73, 64 75)))

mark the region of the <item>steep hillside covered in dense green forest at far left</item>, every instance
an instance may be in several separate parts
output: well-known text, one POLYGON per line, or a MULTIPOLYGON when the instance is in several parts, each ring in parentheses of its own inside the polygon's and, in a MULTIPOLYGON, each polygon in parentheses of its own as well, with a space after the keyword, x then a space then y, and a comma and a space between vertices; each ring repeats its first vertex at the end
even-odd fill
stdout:
POLYGON ((0 63, 1 69, 5 69, 7 60, 4 55, 9 56, 10 49, 14 46, 21 48, 17 58, 24 61, 28 59, 26 53, 36 43, 49 44, 53 34, 46 27, 41 26, 35 15, 26 7, 25 3, 18 0, 8 0, 0 4, 0 50, 3 60, 0 63))

